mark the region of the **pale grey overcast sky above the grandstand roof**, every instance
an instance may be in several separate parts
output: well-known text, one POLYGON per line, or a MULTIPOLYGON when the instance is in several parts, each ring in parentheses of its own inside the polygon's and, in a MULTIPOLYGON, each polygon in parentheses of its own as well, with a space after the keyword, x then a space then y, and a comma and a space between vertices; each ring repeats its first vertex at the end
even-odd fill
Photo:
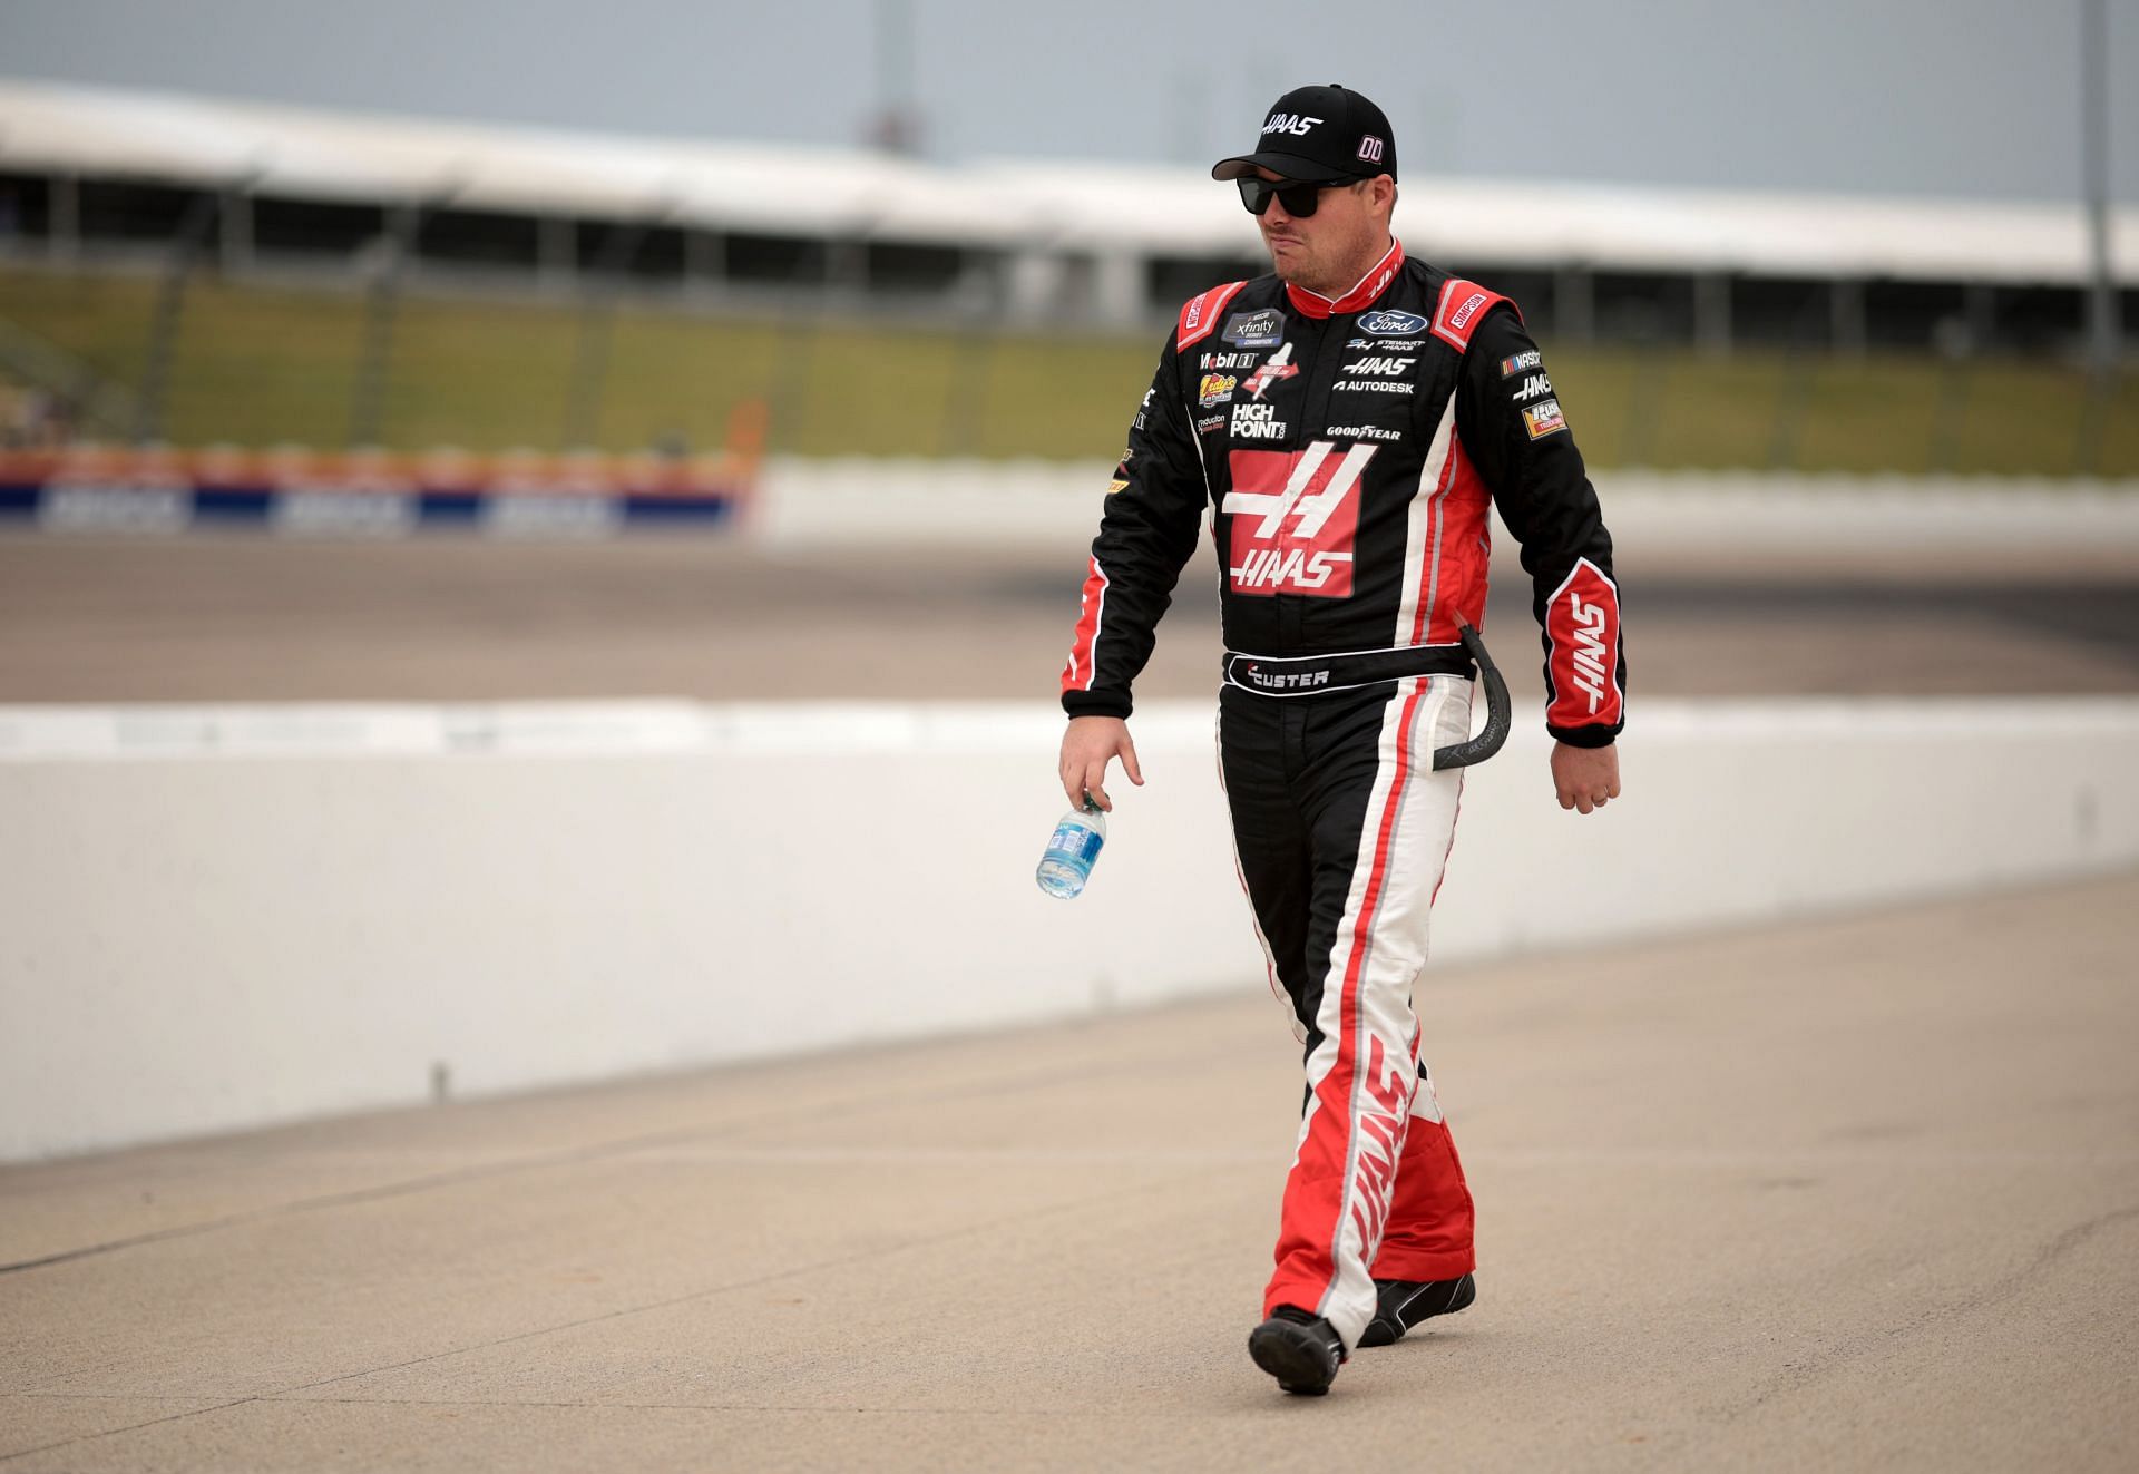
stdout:
MULTIPOLYGON (((2139 0, 2109 4, 2139 201, 2139 0)), ((2081 0, 0 0, 0 75, 856 143, 911 34, 933 158, 1209 163, 1341 81, 1405 173, 2073 199, 2081 0), (909 26, 879 26, 905 13, 909 26), (894 47, 890 56, 896 58, 894 47)))

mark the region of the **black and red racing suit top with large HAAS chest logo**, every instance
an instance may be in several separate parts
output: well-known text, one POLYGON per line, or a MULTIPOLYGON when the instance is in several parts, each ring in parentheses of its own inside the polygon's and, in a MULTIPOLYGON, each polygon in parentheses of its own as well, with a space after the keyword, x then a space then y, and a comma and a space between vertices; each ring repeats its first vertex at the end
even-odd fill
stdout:
POLYGON ((1514 304, 1401 244, 1339 302, 1275 276, 1215 287, 1181 310, 1114 471, 1063 708, 1129 715, 1206 509, 1228 650, 1440 648, 1467 672, 1487 503, 1536 590, 1546 730, 1602 747, 1626 689, 1611 537, 1514 304))

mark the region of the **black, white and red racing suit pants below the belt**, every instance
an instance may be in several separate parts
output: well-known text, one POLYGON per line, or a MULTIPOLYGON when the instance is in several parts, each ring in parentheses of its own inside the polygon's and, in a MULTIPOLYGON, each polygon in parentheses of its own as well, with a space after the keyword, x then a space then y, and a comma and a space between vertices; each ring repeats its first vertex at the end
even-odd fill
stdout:
POLYGON ((1412 986, 1463 774, 1433 749, 1469 736, 1461 676, 1360 691, 1219 695, 1219 772, 1271 982, 1307 1046, 1307 1108, 1286 1179, 1264 1314, 1296 1305, 1356 1346, 1373 1279, 1474 1266, 1472 1200, 1418 1063, 1412 986))

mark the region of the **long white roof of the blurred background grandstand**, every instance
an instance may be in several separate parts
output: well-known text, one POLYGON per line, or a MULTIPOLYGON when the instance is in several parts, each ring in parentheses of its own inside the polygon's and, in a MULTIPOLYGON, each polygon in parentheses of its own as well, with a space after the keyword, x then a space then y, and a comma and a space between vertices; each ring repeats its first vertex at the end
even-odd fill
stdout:
MULTIPOLYGON (((0 79, 0 171, 242 184, 261 195, 667 218, 708 229, 1136 255, 1258 255, 1202 169, 436 122, 0 79)), ((2139 210, 2113 214, 2139 285, 2139 210)), ((1412 175, 1418 255, 1506 265, 2079 285, 2077 201, 1942 201, 1412 175)))

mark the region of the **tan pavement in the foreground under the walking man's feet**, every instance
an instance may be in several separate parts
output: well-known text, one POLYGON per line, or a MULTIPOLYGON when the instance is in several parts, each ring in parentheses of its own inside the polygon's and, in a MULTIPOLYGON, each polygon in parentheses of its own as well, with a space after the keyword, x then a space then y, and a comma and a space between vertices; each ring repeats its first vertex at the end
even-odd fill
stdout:
POLYGON ((9 1168, 0 1470, 2130 1470, 2135 948, 2126 875, 1431 976, 1480 1296, 1324 1399, 1247 971, 9 1168))

